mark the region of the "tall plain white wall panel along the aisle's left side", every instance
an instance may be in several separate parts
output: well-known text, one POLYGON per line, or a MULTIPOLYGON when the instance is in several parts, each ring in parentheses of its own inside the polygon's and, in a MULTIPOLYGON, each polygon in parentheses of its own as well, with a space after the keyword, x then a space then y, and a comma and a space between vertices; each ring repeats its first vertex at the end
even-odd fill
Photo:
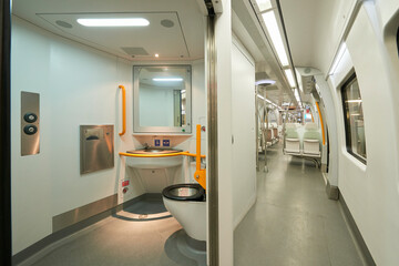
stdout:
POLYGON ((234 227, 256 198, 255 64, 236 43, 232 45, 234 227))

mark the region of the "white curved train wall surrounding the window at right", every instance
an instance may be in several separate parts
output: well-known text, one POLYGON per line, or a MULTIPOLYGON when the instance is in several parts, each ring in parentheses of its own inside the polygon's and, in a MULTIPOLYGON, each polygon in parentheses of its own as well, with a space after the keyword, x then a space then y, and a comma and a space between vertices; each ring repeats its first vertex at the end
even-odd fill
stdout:
MULTIPOLYGON (((399 181, 393 105, 397 90, 390 82, 382 29, 370 19, 365 3, 347 38, 347 47, 358 78, 365 114, 367 165, 345 146, 341 103, 337 106, 339 132, 339 190, 377 265, 399 262, 399 181)), ((368 6, 370 8, 370 6, 368 6)), ((371 7, 374 8, 374 7, 371 7)), ((351 68, 350 61, 342 70, 351 68)), ((331 80, 337 90, 345 74, 331 80)))

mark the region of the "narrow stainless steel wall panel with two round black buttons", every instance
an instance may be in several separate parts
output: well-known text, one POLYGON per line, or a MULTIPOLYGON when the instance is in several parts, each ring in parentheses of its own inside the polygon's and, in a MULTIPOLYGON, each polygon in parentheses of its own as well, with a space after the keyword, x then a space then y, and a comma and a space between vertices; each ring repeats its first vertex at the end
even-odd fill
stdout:
POLYGON ((40 95, 21 92, 21 156, 40 152, 40 95))

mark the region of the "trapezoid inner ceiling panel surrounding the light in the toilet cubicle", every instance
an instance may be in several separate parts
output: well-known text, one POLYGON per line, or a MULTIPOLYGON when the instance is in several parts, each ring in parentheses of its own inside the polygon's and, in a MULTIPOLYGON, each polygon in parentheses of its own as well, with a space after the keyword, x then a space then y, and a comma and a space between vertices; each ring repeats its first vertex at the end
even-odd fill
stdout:
MULTIPOLYGON (((98 49, 106 50, 120 57, 130 57, 125 51, 129 48, 142 48, 147 55, 136 53, 135 59, 154 58, 157 53, 162 58, 190 58, 190 52, 183 35, 176 12, 164 13, 55 13, 38 14, 40 18, 62 31, 70 39, 88 43, 98 49), (147 27, 84 27, 76 22, 78 19, 104 18, 144 18, 150 21, 147 27), (62 27, 63 23, 72 28, 62 27), (166 28, 161 21, 170 21, 173 27, 166 28), (57 23, 58 22, 58 23, 57 23), (59 25, 61 24, 61 25, 59 25), (160 45, 162 43, 162 45, 160 45), (121 48, 125 48, 124 50, 121 48), (127 49, 126 49, 127 48, 127 49)), ((140 49, 135 49, 140 51, 140 49)))

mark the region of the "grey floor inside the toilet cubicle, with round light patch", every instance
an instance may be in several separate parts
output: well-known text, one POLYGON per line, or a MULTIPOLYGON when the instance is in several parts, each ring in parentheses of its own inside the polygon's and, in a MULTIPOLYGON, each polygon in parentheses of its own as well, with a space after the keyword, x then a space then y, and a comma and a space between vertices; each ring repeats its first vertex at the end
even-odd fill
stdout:
POLYGON ((162 198, 146 198, 62 239, 32 265, 200 266, 206 255, 187 254, 186 234, 165 209, 162 198))

